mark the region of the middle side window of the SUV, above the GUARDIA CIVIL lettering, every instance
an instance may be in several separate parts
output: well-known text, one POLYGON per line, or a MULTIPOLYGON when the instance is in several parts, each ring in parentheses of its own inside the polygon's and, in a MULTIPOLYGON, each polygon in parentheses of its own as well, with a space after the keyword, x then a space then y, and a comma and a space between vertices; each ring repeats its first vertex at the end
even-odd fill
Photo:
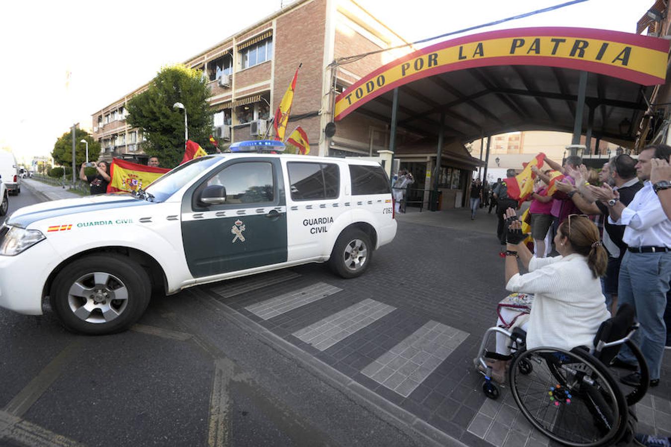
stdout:
POLYGON ((292 200, 338 198, 340 170, 338 165, 313 162, 289 162, 292 200))

